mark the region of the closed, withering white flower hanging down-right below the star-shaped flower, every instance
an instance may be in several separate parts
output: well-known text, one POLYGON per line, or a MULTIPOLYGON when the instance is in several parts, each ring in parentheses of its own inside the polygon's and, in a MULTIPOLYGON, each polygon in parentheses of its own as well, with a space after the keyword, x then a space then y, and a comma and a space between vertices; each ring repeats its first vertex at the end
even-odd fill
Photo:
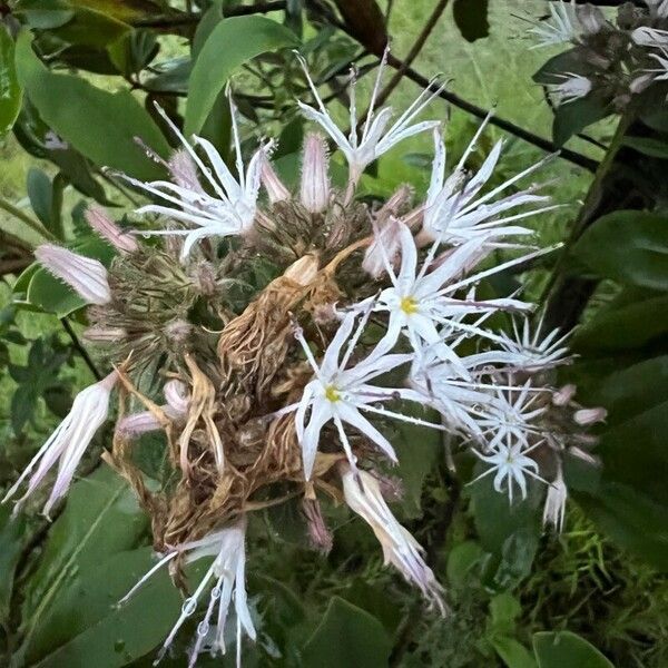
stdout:
POLYGON ((445 615, 443 588, 424 562, 424 550, 396 521, 383 499, 377 480, 366 471, 355 471, 346 464, 341 466, 341 480, 345 502, 373 529, 383 548, 385 563, 399 569, 409 582, 420 588, 441 615, 445 615))

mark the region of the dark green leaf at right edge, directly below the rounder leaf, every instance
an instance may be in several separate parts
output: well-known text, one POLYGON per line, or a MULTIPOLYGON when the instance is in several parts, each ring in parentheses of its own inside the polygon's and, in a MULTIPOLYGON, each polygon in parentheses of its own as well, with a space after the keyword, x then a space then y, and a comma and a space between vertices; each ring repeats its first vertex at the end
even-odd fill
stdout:
POLYGON ((668 332, 668 296, 601 308, 573 337, 576 352, 640 348, 668 332))

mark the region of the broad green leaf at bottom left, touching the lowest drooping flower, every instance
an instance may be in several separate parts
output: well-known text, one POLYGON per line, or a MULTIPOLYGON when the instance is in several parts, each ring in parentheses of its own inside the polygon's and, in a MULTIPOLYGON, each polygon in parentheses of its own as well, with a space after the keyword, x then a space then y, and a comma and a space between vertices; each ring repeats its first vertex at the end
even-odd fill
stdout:
POLYGON ((117 606, 154 564, 146 547, 81 568, 46 612, 28 657, 31 665, 119 668, 163 642, 183 605, 167 569, 117 606))

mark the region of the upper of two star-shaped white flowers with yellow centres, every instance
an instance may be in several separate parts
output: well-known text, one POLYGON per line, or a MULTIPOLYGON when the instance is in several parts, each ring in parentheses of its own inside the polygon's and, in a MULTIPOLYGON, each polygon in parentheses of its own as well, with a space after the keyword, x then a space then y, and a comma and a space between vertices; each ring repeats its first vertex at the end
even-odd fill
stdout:
MULTIPOLYGON (((472 263, 478 262, 487 254, 483 250, 485 237, 478 237, 459 246, 429 274, 426 271, 430 268, 431 256, 428 256, 419 271, 415 242, 405 225, 401 226, 400 240, 400 272, 395 275, 390 264, 386 265, 392 287, 385 288, 373 303, 374 311, 390 313, 389 340, 396 341, 400 333, 404 332, 413 348, 420 351, 423 342, 430 345, 442 342, 443 337, 438 330, 440 325, 478 334, 483 333, 479 328, 462 323, 462 315, 487 313, 500 308, 523 310, 529 307, 523 302, 510 298, 474 301, 458 299, 451 296, 460 287, 477 282, 487 274, 487 272, 482 272, 477 276, 458 281, 472 263)), ((494 271, 500 271, 503 265, 500 265, 494 271)), ((456 358, 445 345, 439 346, 438 352, 451 361, 456 358)))

